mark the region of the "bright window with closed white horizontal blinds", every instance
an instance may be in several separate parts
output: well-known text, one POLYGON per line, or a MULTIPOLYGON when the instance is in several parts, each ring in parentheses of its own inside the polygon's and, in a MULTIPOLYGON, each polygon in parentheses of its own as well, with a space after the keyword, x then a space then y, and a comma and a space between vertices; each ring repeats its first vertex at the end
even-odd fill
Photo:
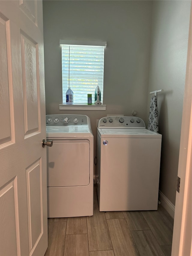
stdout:
POLYGON ((95 89, 101 90, 103 103, 104 47, 106 42, 79 42, 60 40, 62 53, 62 92, 73 91, 73 104, 86 104, 87 94, 95 101, 95 89))

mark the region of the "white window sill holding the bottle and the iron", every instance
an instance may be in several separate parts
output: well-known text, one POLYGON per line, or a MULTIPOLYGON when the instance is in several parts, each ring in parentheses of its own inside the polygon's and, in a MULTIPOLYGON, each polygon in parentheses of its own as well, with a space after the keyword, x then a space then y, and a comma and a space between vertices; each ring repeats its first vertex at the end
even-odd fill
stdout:
POLYGON ((59 104, 59 110, 106 110, 106 105, 66 105, 66 104, 59 104))

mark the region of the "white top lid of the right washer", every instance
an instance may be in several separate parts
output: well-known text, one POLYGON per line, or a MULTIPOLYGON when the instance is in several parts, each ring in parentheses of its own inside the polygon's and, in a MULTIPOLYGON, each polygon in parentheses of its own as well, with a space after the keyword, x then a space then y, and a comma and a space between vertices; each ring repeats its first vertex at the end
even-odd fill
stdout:
POLYGON ((147 129, 104 129, 98 128, 101 137, 161 138, 162 135, 147 129))

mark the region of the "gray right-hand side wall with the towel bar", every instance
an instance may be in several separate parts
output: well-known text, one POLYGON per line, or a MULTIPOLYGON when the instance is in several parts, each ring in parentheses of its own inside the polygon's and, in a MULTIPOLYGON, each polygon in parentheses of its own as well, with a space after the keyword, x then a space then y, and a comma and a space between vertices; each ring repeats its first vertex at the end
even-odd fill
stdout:
MULTIPOLYGON (((160 187, 175 204, 191 1, 154 1, 148 92, 158 94, 160 187)), ((151 95, 148 94, 148 109, 151 95)), ((148 114, 147 114, 148 115, 148 114)))

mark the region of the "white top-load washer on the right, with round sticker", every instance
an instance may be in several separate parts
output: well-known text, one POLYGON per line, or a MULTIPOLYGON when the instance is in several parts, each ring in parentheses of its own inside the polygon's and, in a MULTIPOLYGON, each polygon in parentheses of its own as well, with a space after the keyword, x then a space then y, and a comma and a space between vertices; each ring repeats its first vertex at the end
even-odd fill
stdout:
POLYGON ((157 209, 161 137, 137 117, 99 120, 96 188, 100 211, 157 209))

